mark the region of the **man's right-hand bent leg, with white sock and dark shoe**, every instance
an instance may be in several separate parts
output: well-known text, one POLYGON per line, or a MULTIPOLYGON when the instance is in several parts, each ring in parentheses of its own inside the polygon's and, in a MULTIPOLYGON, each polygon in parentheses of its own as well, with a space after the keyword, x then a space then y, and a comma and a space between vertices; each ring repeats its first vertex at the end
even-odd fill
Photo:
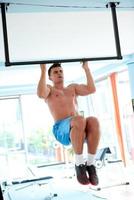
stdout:
POLYGON ((86 119, 86 122, 87 123, 85 130, 88 148, 87 171, 89 174, 89 180, 91 184, 97 185, 98 177, 94 166, 94 158, 100 140, 100 127, 99 122, 95 117, 88 117, 86 119))

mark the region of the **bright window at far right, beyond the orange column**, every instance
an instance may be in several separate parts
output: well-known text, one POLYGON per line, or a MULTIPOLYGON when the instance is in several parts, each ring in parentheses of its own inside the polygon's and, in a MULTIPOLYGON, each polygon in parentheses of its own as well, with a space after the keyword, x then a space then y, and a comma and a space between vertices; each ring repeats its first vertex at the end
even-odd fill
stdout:
POLYGON ((126 156, 134 158, 134 126, 128 71, 117 76, 120 116, 126 156))

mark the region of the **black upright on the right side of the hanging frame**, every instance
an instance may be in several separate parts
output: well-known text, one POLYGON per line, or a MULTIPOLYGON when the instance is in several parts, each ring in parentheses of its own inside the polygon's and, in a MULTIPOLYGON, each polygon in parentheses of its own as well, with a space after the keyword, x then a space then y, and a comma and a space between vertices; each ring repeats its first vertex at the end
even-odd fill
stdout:
POLYGON ((115 46, 117 56, 122 59, 121 55, 121 47, 120 47, 120 39, 119 39, 119 31, 118 31, 118 23, 117 23, 117 15, 116 15, 116 4, 119 2, 110 2, 109 5, 111 7, 112 19, 113 19, 113 28, 114 28, 114 36, 115 36, 115 46))

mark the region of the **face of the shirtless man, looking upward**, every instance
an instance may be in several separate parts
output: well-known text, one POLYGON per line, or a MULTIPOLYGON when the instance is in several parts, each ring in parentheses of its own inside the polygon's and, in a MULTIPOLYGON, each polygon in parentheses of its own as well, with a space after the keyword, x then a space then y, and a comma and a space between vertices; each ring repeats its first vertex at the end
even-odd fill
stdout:
POLYGON ((51 69, 50 77, 49 79, 53 81, 54 83, 60 83, 63 82, 63 69, 62 67, 55 67, 51 69))

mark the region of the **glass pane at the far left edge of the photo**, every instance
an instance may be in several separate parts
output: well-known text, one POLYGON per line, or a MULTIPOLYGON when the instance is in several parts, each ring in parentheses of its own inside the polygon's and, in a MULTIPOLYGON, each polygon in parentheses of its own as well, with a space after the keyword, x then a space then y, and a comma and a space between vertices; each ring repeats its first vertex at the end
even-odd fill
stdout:
POLYGON ((7 174, 14 176, 13 174, 16 173, 14 168, 25 163, 24 137, 18 98, 0 100, 0 163, 1 175, 6 178, 7 174))

